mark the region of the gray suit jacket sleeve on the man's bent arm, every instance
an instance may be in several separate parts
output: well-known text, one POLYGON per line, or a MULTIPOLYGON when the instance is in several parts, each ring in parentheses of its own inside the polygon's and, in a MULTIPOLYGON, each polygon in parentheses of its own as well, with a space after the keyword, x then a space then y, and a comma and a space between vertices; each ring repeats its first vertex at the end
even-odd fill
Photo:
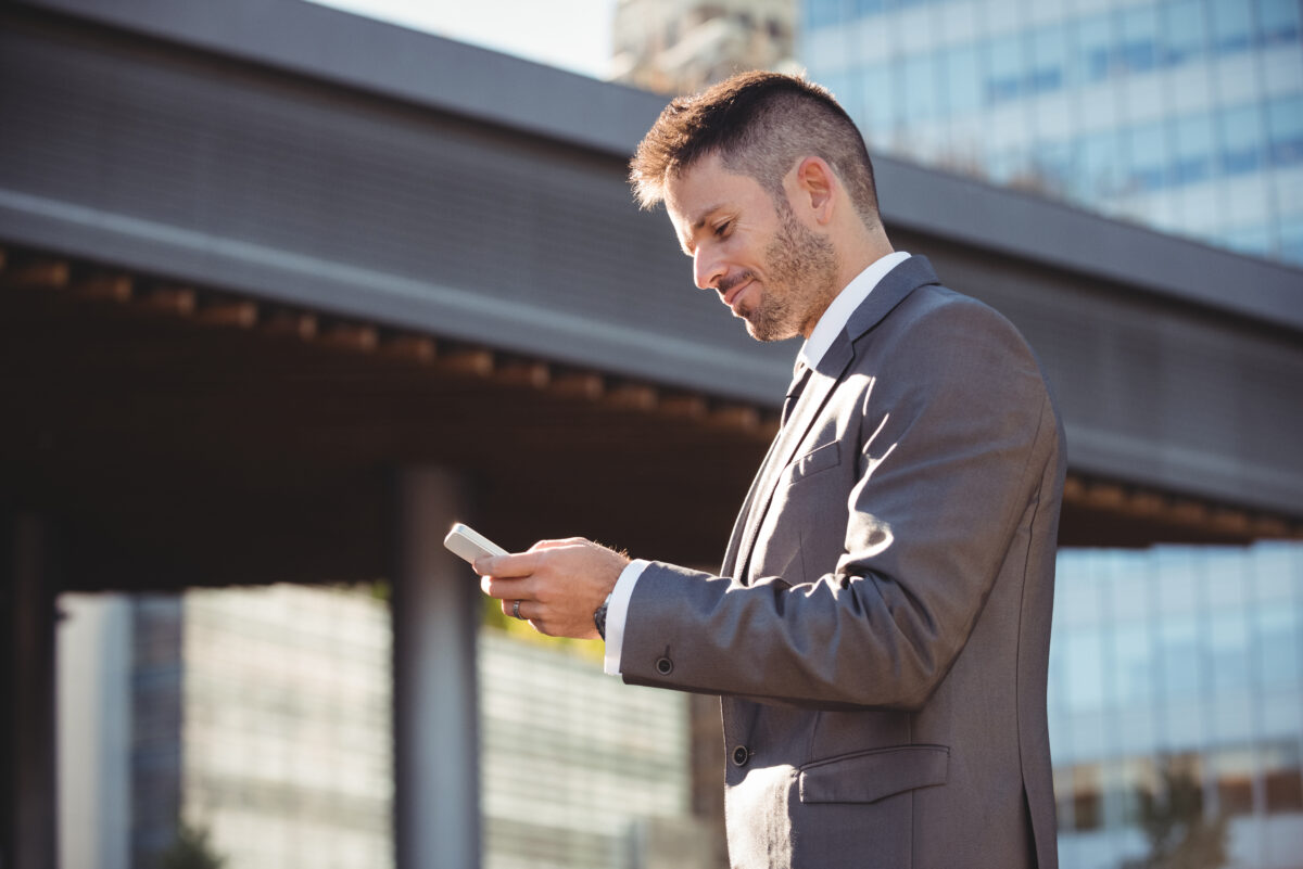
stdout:
MULTIPOLYGON (((951 295, 920 307, 903 328, 865 336, 877 343, 856 347, 829 403, 839 410, 825 411, 844 416, 843 462, 853 461, 837 494, 846 510, 829 511, 846 516, 839 557, 818 553, 827 567, 812 582, 747 584, 653 562, 629 602, 627 682, 813 708, 919 708, 997 578, 1023 582, 1027 516, 1038 498, 1059 497, 1041 490, 1061 449, 1044 377, 984 304, 951 295)), ((821 520, 804 513, 778 520, 821 520)))

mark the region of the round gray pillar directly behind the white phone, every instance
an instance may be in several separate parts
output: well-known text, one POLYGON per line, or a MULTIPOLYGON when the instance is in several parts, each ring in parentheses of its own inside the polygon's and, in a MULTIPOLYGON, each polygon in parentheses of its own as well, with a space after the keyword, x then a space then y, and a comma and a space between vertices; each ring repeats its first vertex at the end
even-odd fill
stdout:
POLYGON ((480 866, 476 631, 480 585, 443 548, 465 519, 455 472, 397 475, 394 766, 397 869, 480 866))

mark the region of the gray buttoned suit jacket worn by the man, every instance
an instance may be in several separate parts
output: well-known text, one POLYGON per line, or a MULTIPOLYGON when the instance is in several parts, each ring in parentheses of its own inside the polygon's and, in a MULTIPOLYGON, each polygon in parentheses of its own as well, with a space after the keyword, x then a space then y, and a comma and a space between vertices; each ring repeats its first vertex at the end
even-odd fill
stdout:
POLYGON ((1063 433, 923 258, 852 315, 721 576, 654 562, 624 679, 723 696, 734 866, 1057 865, 1045 721, 1063 433))

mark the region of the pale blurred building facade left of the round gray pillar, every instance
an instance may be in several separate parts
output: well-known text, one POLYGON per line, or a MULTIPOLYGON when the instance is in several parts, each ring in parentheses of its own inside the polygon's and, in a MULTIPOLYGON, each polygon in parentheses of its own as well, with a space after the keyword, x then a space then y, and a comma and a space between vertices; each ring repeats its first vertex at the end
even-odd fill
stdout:
POLYGON ((241 869, 392 866, 387 602, 308 585, 181 600, 182 816, 241 869))

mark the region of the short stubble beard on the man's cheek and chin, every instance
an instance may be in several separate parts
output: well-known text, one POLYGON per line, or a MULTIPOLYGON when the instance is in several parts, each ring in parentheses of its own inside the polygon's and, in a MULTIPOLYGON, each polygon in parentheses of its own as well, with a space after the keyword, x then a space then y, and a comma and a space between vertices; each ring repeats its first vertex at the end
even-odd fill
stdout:
POLYGON ((760 299, 741 307, 747 332, 757 341, 783 341, 805 334, 837 295, 837 250, 810 232, 782 202, 780 225, 765 247, 766 281, 760 299))

